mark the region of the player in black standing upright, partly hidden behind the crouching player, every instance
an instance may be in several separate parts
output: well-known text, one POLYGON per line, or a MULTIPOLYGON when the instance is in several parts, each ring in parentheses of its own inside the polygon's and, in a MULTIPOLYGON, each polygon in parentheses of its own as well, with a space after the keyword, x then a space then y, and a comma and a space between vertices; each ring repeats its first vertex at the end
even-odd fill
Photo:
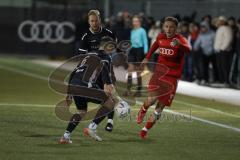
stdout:
MULTIPOLYGON (((83 34, 80 40, 79 54, 85 54, 87 52, 94 52, 99 49, 101 38, 104 36, 111 37, 117 42, 116 36, 107 28, 102 27, 100 12, 98 10, 90 10, 88 13, 89 29, 83 34)), ((113 69, 112 78, 115 79, 113 69)), ((115 81, 115 80, 114 80, 115 81)), ((114 83, 114 82, 113 82, 114 83)), ((113 116, 114 111, 108 114, 108 123, 105 127, 106 131, 111 132, 113 130, 113 116)))

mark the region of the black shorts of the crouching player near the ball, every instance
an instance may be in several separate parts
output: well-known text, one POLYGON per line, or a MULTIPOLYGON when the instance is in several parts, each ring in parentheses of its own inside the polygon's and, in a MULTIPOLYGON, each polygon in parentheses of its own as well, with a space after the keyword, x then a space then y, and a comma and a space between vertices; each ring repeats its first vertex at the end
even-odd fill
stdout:
MULTIPOLYGON (((84 87, 84 90, 86 90, 86 93, 89 92, 90 89, 93 92, 96 92, 97 90, 103 91, 103 89, 100 88, 97 84, 94 84, 91 88, 88 88, 88 84, 79 79, 72 79, 69 84, 74 85, 74 86, 84 87)), ((73 99, 74 99, 74 103, 78 110, 87 110, 88 102, 92 102, 92 103, 96 103, 96 104, 102 103, 101 100, 96 99, 93 96, 88 96, 88 94, 86 94, 85 96, 74 96, 73 95, 73 99)))

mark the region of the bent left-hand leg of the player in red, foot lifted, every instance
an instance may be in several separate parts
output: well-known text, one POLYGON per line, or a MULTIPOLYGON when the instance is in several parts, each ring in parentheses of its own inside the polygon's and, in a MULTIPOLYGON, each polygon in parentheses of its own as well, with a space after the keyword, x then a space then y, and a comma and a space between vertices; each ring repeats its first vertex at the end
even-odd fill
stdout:
POLYGON ((140 108, 138 115, 137 115, 137 123, 140 124, 145 117, 147 110, 150 106, 154 105, 157 101, 156 97, 148 97, 144 102, 142 107, 140 108))

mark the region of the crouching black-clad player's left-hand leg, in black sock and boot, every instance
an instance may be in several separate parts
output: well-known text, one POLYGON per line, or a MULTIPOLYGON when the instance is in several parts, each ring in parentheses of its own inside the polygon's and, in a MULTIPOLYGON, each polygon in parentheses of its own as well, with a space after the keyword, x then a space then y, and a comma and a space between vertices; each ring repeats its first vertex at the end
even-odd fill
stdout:
POLYGON ((71 133, 75 130, 75 128, 78 126, 81 119, 87 113, 86 99, 79 97, 79 96, 73 96, 73 98, 74 98, 76 107, 78 109, 78 112, 73 114, 73 116, 70 118, 65 132, 64 132, 63 136, 61 137, 61 139, 59 140, 60 144, 72 143, 72 141, 70 140, 71 133))

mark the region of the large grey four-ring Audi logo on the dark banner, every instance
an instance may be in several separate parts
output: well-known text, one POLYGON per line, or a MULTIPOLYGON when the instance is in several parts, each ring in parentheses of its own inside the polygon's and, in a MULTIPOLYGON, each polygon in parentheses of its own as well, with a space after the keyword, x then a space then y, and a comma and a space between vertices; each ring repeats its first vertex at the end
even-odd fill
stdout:
POLYGON ((24 42, 71 43, 74 41, 75 25, 71 22, 23 21, 18 36, 24 42))

